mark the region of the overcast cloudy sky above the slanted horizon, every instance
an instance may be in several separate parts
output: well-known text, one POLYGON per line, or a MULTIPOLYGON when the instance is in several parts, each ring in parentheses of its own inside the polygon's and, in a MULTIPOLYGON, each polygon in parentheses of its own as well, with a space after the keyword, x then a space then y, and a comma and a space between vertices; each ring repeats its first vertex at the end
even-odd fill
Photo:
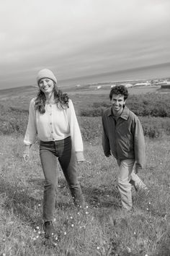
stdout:
MULTIPOLYGON (((0 89, 170 62, 169 0, 0 0, 0 89)), ((170 72, 170 71, 169 71, 170 72)))

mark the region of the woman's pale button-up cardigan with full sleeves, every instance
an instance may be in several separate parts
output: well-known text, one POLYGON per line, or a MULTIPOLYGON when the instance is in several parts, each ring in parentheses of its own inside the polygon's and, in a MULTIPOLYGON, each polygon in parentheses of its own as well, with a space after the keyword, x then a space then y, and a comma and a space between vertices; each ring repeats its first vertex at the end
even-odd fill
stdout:
POLYGON ((71 136, 77 161, 84 160, 83 141, 71 99, 68 106, 63 109, 56 103, 46 103, 45 114, 40 114, 40 111, 35 110, 35 98, 32 98, 24 145, 32 145, 36 135, 42 141, 63 140, 71 136))

